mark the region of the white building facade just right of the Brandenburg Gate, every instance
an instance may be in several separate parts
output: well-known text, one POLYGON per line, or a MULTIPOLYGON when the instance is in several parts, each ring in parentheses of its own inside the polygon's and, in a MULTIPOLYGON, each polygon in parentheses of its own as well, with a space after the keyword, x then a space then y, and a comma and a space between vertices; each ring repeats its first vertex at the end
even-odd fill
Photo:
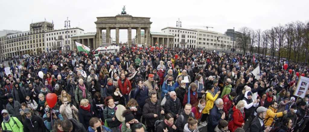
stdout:
POLYGON ((174 47, 197 48, 197 31, 193 29, 166 27, 162 33, 174 35, 174 47))

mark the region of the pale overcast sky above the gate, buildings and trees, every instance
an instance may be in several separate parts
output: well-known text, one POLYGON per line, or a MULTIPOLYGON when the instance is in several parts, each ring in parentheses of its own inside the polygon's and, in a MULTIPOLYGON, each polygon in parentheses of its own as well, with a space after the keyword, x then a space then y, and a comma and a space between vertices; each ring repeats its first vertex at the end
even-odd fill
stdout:
MULTIPOLYGON (((291 21, 309 20, 308 0, 2 0, 0 30, 28 31, 31 21, 44 18, 53 20, 54 29, 61 29, 69 17, 71 27, 79 22, 85 32, 96 32, 96 17, 120 14, 124 5, 133 17, 151 17, 151 32, 161 32, 167 25, 175 27, 178 18, 183 28, 211 26, 214 28, 209 30, 221 33, 233 27, 265 30, 291 21)), ((111 37, 115 37, 114 30, 111 37)), ((120 30, 120 41, 127 41, 127 30, 120 30)))

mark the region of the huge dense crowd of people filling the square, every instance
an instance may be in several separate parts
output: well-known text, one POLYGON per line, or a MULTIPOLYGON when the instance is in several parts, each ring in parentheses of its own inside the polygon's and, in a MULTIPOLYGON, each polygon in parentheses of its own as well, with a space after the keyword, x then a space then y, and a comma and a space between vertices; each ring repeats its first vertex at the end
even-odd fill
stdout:
POLYGON ((305 63, 158 47, 1 61, 1 131, 301 132, 309 91, 294 95, 296 72, 309 77, 305 63), (48 93, 57 95, 54 107, 48 93))

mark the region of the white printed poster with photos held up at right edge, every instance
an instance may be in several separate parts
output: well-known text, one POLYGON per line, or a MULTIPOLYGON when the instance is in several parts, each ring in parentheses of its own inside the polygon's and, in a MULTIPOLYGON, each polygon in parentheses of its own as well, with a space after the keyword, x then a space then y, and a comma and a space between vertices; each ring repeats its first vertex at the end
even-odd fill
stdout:
POLYGON ((294 95, 299 98, 304 98, 309 87, 309 78, 300 76, 294 95))

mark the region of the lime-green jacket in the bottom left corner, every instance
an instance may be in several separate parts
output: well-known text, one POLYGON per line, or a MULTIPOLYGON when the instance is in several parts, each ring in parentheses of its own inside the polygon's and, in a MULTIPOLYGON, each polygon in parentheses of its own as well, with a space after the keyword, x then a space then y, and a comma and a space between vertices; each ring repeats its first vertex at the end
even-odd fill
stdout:
POLYGON ((11 117, 9 122, 3 121, 1 123, 1 126, 2 130, 10 130, 12 132, 23 132, 23 124, 16 117, 11 117))

